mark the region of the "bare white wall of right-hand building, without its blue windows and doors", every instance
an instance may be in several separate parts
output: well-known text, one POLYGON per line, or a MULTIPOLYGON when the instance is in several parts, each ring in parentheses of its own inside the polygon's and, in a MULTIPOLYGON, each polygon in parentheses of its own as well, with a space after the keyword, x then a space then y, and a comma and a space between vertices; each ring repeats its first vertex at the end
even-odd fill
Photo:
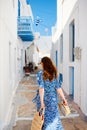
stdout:
MULTIPOLYGON (((60 36, 63 34, 63 64, 58 59, 58 69, 63 72, 63 87, 70 94, 70 72, 69 68, 74 68, 74 101, 81 107, 82 111, 87 114, 87 1, 86 0, 58 0, 58 21, 57 31, 53 35, 54 46, 52 51, 56 51, 55 45, 58 44, 58 57, 60 57, 60 36), (69 60, 70 57, 70 24, 75 22, 75 48, 80 47, 81 59, 75 58, 74 62, 69 60), (63 67, 63 68, 62 68, 63 67)), ((52 55, 53 56, 53 55, 52 55)))

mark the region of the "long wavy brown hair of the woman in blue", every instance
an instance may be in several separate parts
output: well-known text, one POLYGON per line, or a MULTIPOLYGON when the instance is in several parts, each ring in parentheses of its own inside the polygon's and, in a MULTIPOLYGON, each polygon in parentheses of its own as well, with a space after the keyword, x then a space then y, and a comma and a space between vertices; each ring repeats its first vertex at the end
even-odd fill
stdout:
POLYGON ((43 79, 52 81, 54 78, 57 78, 57 69, 51 59, 49 57, 43 57, 41 62, 43 64, 43 79))

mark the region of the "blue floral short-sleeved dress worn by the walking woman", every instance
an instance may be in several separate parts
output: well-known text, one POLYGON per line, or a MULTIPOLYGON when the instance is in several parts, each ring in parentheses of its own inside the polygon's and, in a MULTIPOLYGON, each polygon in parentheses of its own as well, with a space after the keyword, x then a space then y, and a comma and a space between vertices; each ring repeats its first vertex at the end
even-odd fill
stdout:
MULTIPOLYGON (((43 80, 43 71, 39 71, 37 74, 37 82, 39 88, 44 88, 44 125, 42 130, 64 130, 61 124, 60 115, 58 111, 58 96, 57 89, 60 84, 57 79, 53 81, 43 80)), ((36 96, 37 111, 40 109, 40 97, 37 93, 36 96)))

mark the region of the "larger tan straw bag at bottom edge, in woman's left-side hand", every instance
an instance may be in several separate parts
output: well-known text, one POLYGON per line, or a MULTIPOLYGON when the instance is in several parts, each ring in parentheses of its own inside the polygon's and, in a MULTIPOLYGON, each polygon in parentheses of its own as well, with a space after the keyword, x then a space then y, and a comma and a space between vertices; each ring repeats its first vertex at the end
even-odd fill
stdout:
POLYGON ((43 112, 42 110, 34 114, 34 118, 31 123, 31 130, 41 130, 43 126, 43 112))

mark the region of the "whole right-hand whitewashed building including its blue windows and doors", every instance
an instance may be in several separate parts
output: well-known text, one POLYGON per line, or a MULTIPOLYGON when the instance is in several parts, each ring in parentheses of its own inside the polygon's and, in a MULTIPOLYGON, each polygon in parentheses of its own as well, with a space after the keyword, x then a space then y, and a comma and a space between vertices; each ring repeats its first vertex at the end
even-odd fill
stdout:
POLYGON ((87 115, 87 0, 58 0, 51 57, 63 88, 87 115))

